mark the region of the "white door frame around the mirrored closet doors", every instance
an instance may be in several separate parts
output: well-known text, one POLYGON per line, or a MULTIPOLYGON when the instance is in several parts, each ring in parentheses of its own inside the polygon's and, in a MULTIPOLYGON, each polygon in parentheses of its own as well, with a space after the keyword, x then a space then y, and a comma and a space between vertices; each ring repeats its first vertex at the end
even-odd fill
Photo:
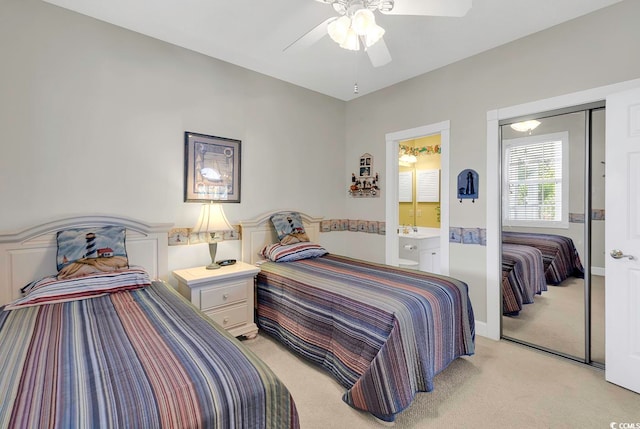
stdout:
MULTIPOLYGON (((499 340, 501 331, 501 257, 500 257, 500 132, 498 122, 503 119, 533 115, 581 104, 602 101, 608 95, 632 89, 640 79, 601 86, 517 106, 487 112, 487 325, 486 336, 499 340)), ((605 111, 606 115, 606 111, 605 111)), ((608 142, 605 142, 605 145, 608 142)), ((605 232, 606 233, 606 232, 605 232)))

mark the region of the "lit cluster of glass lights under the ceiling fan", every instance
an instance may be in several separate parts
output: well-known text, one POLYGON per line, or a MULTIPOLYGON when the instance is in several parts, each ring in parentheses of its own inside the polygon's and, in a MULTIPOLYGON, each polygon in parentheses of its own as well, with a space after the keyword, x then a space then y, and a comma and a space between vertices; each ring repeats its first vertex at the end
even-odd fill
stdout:
POLYGON ((327 33, 343 49, 359 51, 361 44, 373 46, 384 36, 376 24, 375 10, 390 11, 393 0, 317 0, 333 6, 342 15, 327 25, 327 33))

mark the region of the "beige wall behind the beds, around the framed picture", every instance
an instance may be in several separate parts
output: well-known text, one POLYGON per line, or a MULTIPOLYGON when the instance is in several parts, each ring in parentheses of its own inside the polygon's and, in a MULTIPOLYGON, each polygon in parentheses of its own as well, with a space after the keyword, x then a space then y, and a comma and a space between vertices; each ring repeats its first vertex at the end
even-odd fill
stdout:
POLYGON ((0 2, 0 58, 1 231, 87 212, 192 226, 185 131, 242 140, 230 221, 343 215, 342 101, 36 0, 0 2))

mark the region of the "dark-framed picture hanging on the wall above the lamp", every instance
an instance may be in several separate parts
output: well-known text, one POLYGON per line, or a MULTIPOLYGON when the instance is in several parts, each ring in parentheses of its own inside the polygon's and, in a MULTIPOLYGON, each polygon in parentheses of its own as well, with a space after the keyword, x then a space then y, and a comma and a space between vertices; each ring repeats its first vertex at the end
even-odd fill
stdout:
POLYGON ((239 203, 242 142, 184 133, 184 201, 239 203))

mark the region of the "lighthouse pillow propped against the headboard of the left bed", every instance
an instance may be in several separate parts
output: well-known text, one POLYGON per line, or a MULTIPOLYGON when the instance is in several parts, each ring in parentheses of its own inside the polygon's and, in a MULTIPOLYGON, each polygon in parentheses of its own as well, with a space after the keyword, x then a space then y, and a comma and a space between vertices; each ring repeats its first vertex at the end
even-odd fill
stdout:
POLYGON ((129 267, 124 227, 76 228, 57 234, 58 279, 129 267))

